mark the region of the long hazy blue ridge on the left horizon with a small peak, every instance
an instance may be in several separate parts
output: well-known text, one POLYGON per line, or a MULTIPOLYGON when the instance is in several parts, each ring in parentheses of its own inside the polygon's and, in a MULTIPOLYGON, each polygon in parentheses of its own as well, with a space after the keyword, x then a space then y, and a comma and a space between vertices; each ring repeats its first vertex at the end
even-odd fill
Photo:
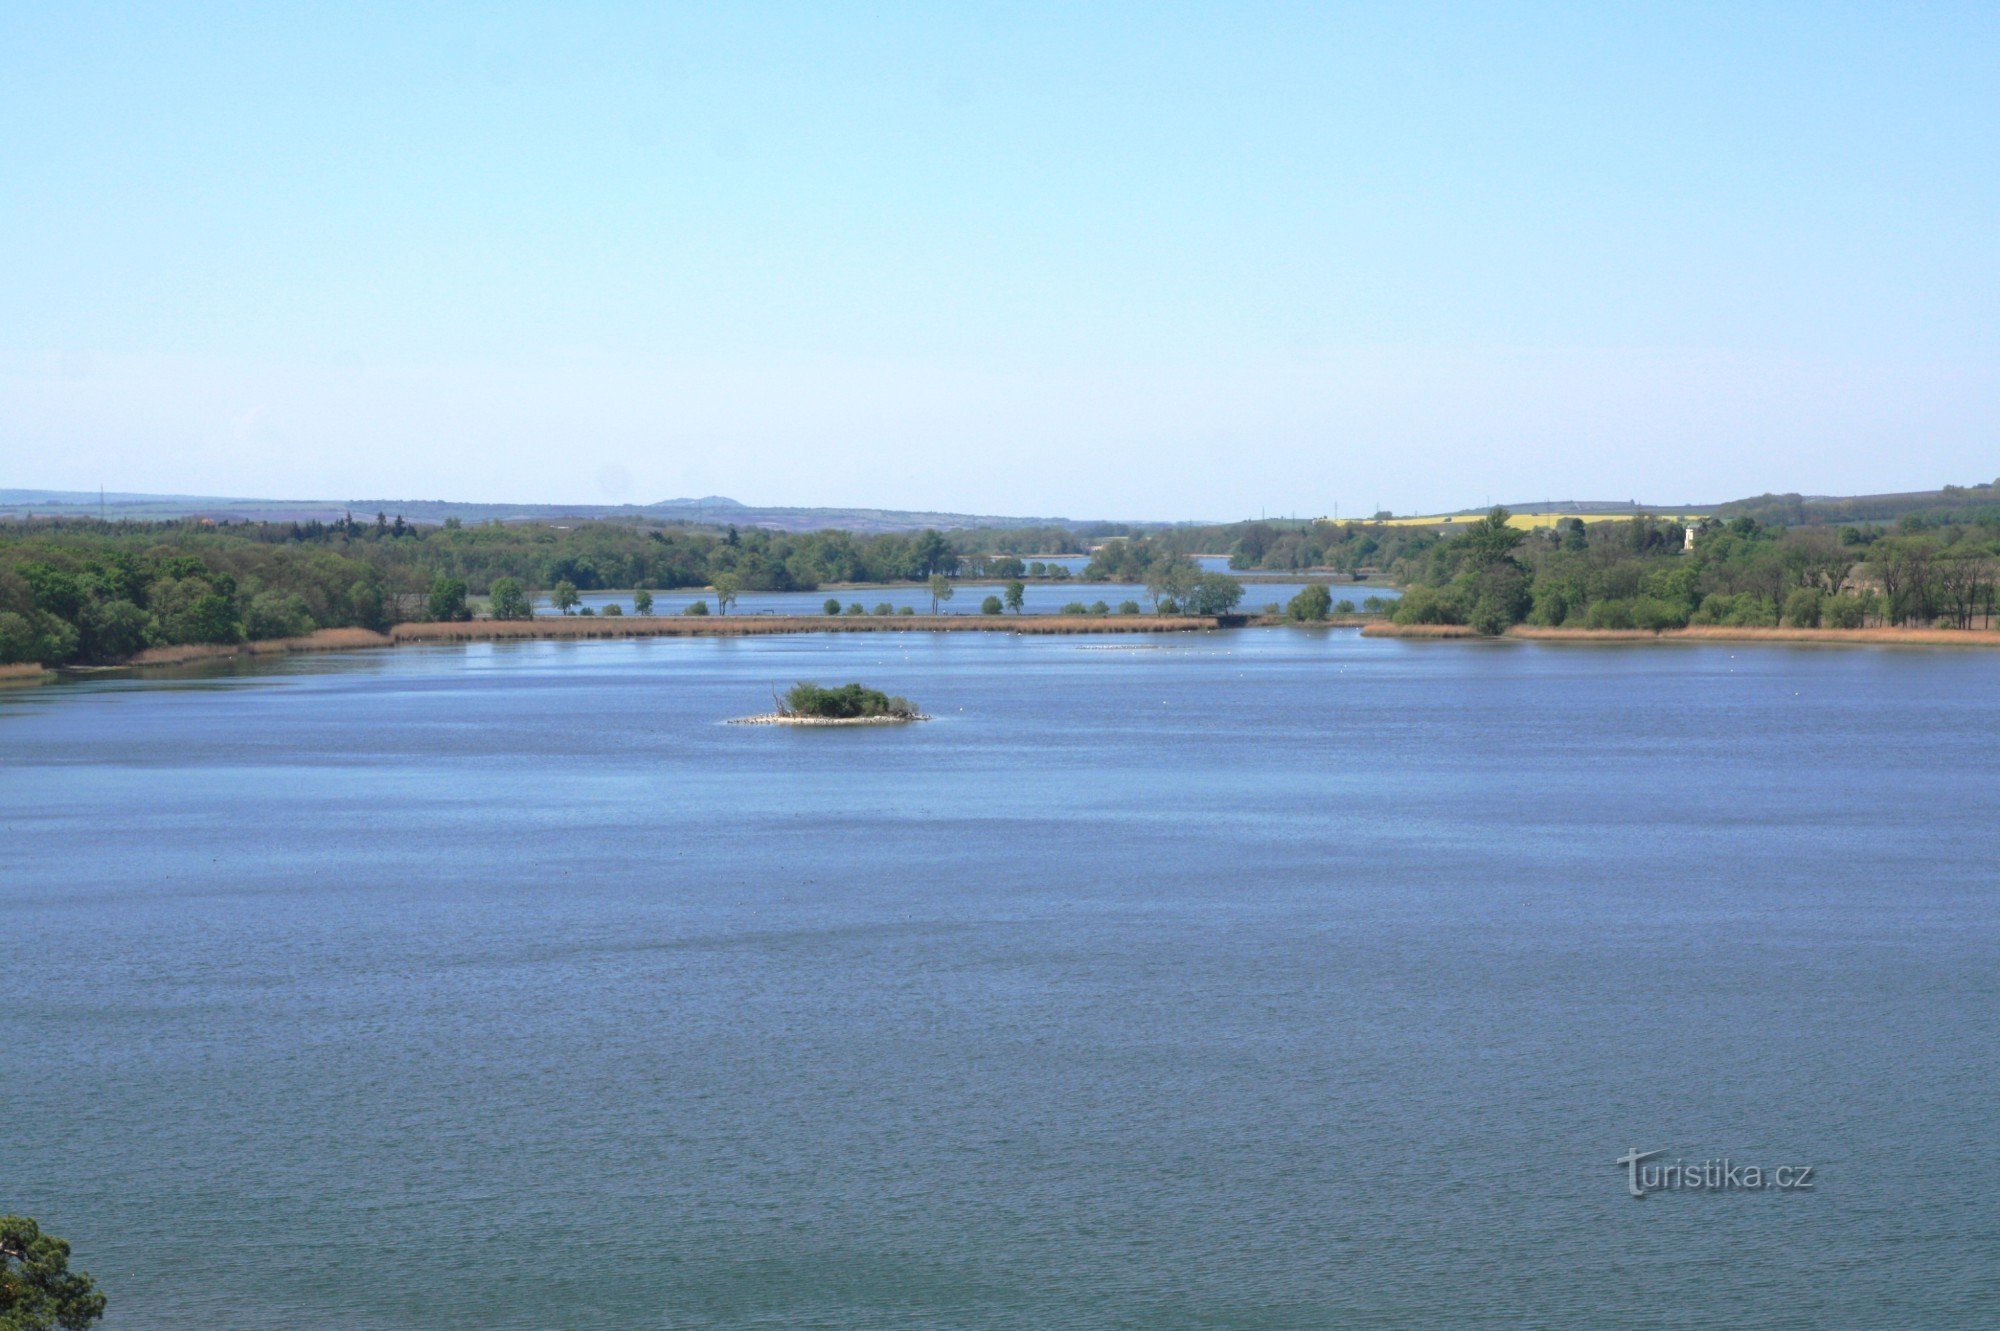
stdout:
POLYGON ((738 526, 778 532, 920 532, 924 528, 1078 526, 1068 518, 1000 518, 894 508, 758 508, 724 496, 660 500, 658 504, 462 504, 454 500, 242 500, 190 494, 126 494, 94 490, 0 490, 4 518, 96 518, 216 522, 334 522, 346 514, 388 514, 406 522, 592 522, 600 518, 664 526, 738 526))

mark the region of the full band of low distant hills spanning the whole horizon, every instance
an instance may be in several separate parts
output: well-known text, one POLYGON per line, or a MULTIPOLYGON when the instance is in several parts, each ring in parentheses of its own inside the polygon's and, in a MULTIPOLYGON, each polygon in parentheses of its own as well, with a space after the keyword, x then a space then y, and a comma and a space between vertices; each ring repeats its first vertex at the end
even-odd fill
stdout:
MULTIPOLYGON (((1896 522, 1910 514, 1944 514, 1964 510, 2000 512, 2000 482, 1984 486, 1942 486, 1938 490, 1906 490, 1870 496, 1802 496, 1762 494, 1726 504, 1640 504, 1638 500, 1532 500, 1506 504, 1516 514, 1624 518, 1634 514, 1678 514, 1714 518, 1756 518, 1774 526, 1896 522)), ((1486 512, 1464 508, 1450 514, 1374 514, 1374 520, 1394 518, 1398 524, 1428 520, 1464 520, 1486 512)), ((478 504, 456 500, 250 500, 186 494, 132 494, 90 490, 0 490, 0 520, 4 518, 106 518, 136 522, 174 522, 200 518, 212 522, 338 522, 346 516, 374 518, 386 514, 414 524, 458 522, 642 522, 658 526, 738 526, 774 532, 842 530, 856 534, 934 530, 994 530, 994 528, 1066 528, 1074 532, 1136 532, 1172 526, 1218 526, 1194 520, 1070 520, 1070 518, 1010 518, 994 514, 954 514, 942 510, 894 508, 790 508, 756 506, 726 496, 698 500, 662 500, 658 504, 478 504)), ((1354 516, 1350 520, 1370 522, 1354 516)), ((1242 522, 1242 520, 1238 520, 1242 522)), ((1268 520, 1294 526, 1296 518, 1268 520)))

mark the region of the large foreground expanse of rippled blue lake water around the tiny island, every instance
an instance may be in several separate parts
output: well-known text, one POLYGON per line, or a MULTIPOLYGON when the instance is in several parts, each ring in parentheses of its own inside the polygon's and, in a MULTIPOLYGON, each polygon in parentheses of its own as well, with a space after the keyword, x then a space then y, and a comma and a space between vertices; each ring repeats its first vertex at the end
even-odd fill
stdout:
POLYGON ((1342 630, 6 691, 0 1211, 110 1331, 1992 1327, 1996 731, 1342 630), (800 677, 938 719, 720 723, 800 677))

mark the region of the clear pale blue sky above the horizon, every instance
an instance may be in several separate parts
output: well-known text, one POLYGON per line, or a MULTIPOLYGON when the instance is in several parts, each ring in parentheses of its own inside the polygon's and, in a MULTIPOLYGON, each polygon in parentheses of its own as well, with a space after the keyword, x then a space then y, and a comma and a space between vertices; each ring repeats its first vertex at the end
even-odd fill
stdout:
POLYGON ((2000 6, 0 6, 0 488, 2000 476, 2000 6))

